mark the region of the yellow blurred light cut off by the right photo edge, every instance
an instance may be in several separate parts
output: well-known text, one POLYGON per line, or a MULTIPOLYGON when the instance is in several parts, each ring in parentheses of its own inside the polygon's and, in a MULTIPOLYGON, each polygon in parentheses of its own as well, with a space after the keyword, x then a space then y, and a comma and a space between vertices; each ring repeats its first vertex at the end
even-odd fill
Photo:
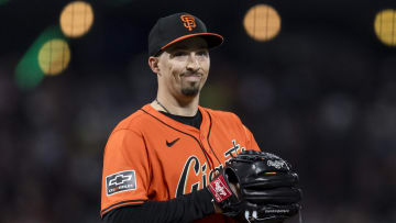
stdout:
POLYGON ((386 45, 396 45, 396 10, 386 9, 378 12, 374 21, 375 34, 386 45))

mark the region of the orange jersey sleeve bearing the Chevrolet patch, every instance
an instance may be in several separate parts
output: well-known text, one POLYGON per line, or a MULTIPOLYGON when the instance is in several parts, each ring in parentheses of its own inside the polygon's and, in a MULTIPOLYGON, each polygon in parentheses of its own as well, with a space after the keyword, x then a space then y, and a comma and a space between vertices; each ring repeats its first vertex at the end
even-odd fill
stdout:
POLYGON ((143 203, 147 200, 150 180, 142 134, 132 130, 112 132, 103 154, 100 215, 119 207, 143 203))

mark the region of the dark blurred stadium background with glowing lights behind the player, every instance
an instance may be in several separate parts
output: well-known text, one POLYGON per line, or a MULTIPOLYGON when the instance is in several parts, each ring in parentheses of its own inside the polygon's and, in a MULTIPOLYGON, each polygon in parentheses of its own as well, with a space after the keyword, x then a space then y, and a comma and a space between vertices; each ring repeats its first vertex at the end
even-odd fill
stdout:
POLYGON ((100 222, 102 149, 154 99, 146 38, 186 11, 226 37, 201 104, 294 164, 305 223, 396 222, 396 2, 0 0, 0 219, 100 222))

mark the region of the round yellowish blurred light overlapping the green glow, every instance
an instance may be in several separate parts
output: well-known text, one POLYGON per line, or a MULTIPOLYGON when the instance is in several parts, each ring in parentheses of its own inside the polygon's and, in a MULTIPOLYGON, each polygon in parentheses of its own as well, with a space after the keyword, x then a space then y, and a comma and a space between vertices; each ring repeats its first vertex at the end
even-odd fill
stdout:
POLYGON ((70 62, 70 48, 62 38, 46 42, 38 52, 38 65, 46 75, 58 75, 70 62))

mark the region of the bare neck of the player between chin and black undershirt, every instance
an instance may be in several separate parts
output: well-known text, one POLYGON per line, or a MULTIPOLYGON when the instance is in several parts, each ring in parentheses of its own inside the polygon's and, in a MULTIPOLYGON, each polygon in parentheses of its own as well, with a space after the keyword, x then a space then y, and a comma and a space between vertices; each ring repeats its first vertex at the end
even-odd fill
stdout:
POLYGON ((170 114, 194 116, 198 111, 198 102, 199 94, 177 99, 175 97, 164 97, 158 93, 156 100, 154 100, 151 105, 158 111, 170 114))

